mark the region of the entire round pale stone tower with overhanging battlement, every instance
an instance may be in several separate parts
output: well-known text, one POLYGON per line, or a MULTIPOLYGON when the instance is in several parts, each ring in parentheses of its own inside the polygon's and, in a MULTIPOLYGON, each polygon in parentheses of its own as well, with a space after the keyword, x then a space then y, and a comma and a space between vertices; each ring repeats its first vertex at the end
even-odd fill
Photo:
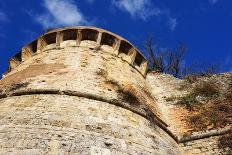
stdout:
POLYGON ((0 81, 0 154, 181 154, 131 43, 93 27, 45 33, 0 81))

